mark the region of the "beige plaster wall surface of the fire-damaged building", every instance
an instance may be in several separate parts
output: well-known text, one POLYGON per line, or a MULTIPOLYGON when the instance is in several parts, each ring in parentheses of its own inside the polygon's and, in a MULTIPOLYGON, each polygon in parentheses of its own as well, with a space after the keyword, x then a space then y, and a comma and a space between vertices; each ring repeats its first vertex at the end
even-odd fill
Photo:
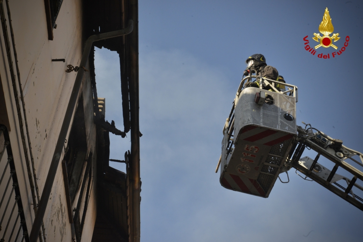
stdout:
MULTIPOLYGON (((66 65, 78 66, 82 54, 82 9, 81 1, 64 0, 53 30, 54 40, 48 40, 44 0, 10 1, 12 26, 24 93, 26 117, 34 157, 38 188, 41 194, 52 160, 66 107, 72 91, 76 72, 66 73, 66 65), (65 58, 64 62, 52 59, 65 58)), ((6 5, 4 4, 6 8, 6 5)), ((9 22, 6 14, 7 23, 9 22)), ((10 31, 8 26, 8 32, 10 31)), ((7 61, 3 30, 1 32, 0 75, 3 83, 6 107, 11 125, 10 139, 18 173, 23 206, 28 230, 34 220, 29 179, 24 159, 19 121, 7 61)), ((10 34, 10 32, 9 32, 10 34)), ((15 64, 14 56, 12 55, 15 64)), ((15 68, 15 65, 14 65, 15 68)), ((95 125, 93 124, 92 91, 89 79, 83 80, 82 92, 86 117, 87 146, 95 154, 95 125)), ((16 80, 17 81, 17 80, 16 80)), ((19 87, 18 87, 19 90, 19 87)), ((19 100, 20 101, 20 100, 19 100)), ((22 113, 22 116, 24 114, 22 113)), ((24 126, 25 130, 25 126, 24 126)), ((70 131, 70 128, 69 128, 70 131)), ((88 151, 88 152, 89 152, 88 151)), ((95 167, 93 166, 95 174, 95 167)), ((95 176, 93 176, 95 177, 95 176)), ((93 181, 93 183, 95 180, 93 181)), ((90 241, 96 215, 95 188, 92 185, 91 199, 87 210, 86 225, 82 240, 90 241)), ((77 205, 74 202, 73 208, 77 205)), ((44 216, 45 234, 48 241, 71 241, 71 226, 64 190, 61 165, 53 184, 47 212, 44 216)))

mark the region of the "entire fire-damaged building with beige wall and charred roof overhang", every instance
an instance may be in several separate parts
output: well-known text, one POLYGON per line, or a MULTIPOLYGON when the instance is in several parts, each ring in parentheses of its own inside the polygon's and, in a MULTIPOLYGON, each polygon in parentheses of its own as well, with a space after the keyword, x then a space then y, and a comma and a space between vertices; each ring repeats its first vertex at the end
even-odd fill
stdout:
POLYGON ((139 241, 138 2, 6 0, 0 17, 1 241, 139 241), (124 127, 105 121, 94 46, 120 56, 124 127), (124 173, 109 135, 126 133, 124 173))

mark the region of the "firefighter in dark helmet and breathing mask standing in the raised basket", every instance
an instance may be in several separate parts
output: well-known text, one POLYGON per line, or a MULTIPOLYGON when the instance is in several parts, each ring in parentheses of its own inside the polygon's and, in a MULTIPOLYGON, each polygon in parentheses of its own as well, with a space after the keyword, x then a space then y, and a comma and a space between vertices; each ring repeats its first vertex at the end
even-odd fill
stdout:
MULTIPOLYGON (((247 68, 243 75, 249 75, 250 72, 255 72, 257 77, 266 77, 272 80, 277 80, 278 71, 275 67, 268 66, 266 64, 266 59, 262 54, 254 54, 247 58, 246 60, 247 68)), ((245 87, 259 87, 260 83, 257 82, 246 82, 245 87)), ((263 89, 268 90, 265 85, 262 86, 263 89)))

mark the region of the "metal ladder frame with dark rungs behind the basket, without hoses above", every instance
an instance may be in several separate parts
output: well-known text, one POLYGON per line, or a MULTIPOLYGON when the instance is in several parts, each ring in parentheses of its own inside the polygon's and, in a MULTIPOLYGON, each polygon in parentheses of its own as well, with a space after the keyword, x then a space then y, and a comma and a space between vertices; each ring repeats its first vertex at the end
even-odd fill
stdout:
POLYGON ((358 188, 359 190, 363 191, 362 186, 355 184, 355 181, 357 179, 360 179, 363 181, 363 172, 358 170, 357 168, 353 167, 352 165, 346 163, 342 159, 339 159, 338 157, 332 155, 326 149, 313 143, 311 140, 308 139, 307 136, 306 137, 302 136, 298 141, 299 141, 300 149, 298 147, 295 150, 293 159, 291 160, 291 166, 293 168, 297 169, 299 172, 301 172, 305 176, 309 177, 313 181, 318 182, 320 185, 324 186, 326 189, 337 194, 339 197, 343 198, 350 204, 356 206, 357 208, 359 208, 360 210, 363 211, 362 198, 354 195, 354 193, 352 192, 353 186, 355 188, 358 188), (318 155, 315 157, 315 159, 309 169, 307 169, 306 167, 303 167, 301 164, 298 163, 298 161, 300 160, 300 157, 302 155, 302 151, 303 151, 303 149, 301 151, 302 147, 303 148, 309 147, 318 153, 318 155), (332 171, 330 171, 329 176, 327 177, 326 180, 312 172, 313 168, 317 164, 317 161, 318 161, 320 155, 326 157, 328 160, 332 161, 335 164, 334 168, 332 169, 332 171), (338 184, 336 181, 331 182, 338 167, 342 167, 343 169, 348 171, 352 176, 352 179, 348 179, 346 177, 342 178, 343 180, 346 180, 349 183, 346 188, 344 188, 342 185, 338 184))

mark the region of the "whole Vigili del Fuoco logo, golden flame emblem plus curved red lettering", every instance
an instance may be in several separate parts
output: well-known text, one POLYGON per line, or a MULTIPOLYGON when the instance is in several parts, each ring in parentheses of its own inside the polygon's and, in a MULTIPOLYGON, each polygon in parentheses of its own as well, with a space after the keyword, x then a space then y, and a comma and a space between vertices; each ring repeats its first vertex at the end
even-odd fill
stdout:
MULTIPOLYGON (((334 32, 334 27, 333 24, 331 24, 331 18, 329 15, 329 11, 328 8, 325 9, 325 13, 323 16, 323 21, 321 21, 320 25, 319 25, 319 32, 323 34, 323 36, 320 36, 319 33, 314 33, 314 37, 312 37, 313 40, 319 42, 318 45, 311 47, 309 44, 309 36, 305 36, 303 38, 303 40, 305 41, 305 50, 309 51, 313 56, 315 56, 315 54, 317 53, 317 49, 320 47, 324 47, 324 48, 329 48, 329 47, 333 47, 334 49, 336 49, 337 51, 334 51, 328 54, 325 53, 320 53, 318 54, 318 58, 323 58, 323 59, 330 59, 330 57, 335 58, 336 56, 340 56, 344 51, 345 48, 348 46, 348 42, 349 42, 349 36, 345 37, 345 42, 344 42, 344 46, 342 46, 342 48, 340 48, 338 50, 338 46, 333 44, 333 42, 337 42, 340 37, 339 33, 333 33, 334 32), (332 36, 330 36, 330 34, 333 33, 332 36)), ((341 43, 343 43, 341 41, 341 43)))

